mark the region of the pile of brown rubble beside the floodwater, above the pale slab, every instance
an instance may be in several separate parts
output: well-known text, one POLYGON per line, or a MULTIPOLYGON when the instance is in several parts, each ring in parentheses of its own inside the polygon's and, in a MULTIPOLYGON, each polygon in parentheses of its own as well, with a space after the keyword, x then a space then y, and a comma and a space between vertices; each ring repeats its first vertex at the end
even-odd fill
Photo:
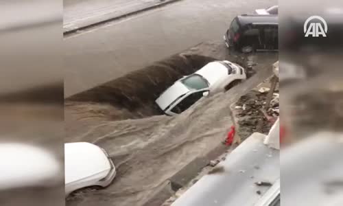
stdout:
POLYGON ((237 135, 246 139, 252 133, 268 134, 273 123, 279 117, 279 93, 274 93, 270 106, 267 104, 268 89, 250 91, 242 96, 234 106, 233 115, 238 124, 237 135))

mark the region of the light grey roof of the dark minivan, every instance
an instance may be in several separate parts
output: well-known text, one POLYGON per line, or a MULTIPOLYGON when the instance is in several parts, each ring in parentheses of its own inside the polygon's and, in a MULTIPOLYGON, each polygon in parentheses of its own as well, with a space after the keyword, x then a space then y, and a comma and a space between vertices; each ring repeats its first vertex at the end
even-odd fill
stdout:
POLYGON ((241 26, 249 23, 279 23, 278 15, 241 14, 236 17, 241 26))

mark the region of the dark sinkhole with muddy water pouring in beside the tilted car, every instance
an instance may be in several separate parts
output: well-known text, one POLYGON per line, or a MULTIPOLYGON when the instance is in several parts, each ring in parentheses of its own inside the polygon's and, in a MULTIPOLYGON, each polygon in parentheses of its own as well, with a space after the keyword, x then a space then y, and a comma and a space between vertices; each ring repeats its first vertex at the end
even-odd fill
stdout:
POLYGON ((161 115, 154 103, 165 89, 215 60, 208 56, 176 54, 122 78, 67 98, 67 110, 106 120, 137 119, 161 115))

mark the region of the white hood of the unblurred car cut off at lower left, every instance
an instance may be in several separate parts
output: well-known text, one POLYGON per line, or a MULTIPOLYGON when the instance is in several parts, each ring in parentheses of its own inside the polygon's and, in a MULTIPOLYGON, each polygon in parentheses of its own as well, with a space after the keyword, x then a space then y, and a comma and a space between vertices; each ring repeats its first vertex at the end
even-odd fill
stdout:
POLYGON ((64 144, 65 184, 110 170, 104 151, 87 142, 64 144))

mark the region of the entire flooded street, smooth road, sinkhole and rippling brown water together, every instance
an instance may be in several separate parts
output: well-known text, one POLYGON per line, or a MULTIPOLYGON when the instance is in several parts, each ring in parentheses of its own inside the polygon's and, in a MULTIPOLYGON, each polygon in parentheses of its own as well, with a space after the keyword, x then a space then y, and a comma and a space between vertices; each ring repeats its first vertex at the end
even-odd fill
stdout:
POLYGON ((171 187, 173 176, 226 149, 230 104, 272 75, 276 53, 249 56, 257 63, 254 76, 180 115, 162 115, 154 100, 207 62, 237 60, 222 41, 230 21, 272 3, 185 0, 65 36, 65 141, 104 148, 117 168, 108 187, 76 192, 67 205, 161 205, 164 199, 151 200, 171 187))

